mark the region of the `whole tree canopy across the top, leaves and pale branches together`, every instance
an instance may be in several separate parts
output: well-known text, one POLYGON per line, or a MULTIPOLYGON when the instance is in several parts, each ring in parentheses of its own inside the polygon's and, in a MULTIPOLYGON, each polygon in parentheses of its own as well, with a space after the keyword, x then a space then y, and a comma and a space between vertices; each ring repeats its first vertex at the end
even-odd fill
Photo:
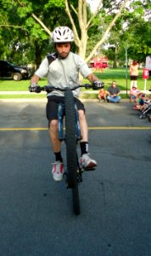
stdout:
POLYGON ((86 0, 1 0, 0 8, 0 57, 9 61, 38 66, 53 51, 56 26, 70 26, 73 49, 87 62, 107 43, 116 46, 117 58, 126 40, 132 58, 143 60, 151 51, 150 20, 143 18, 149 17, 149 0, 99 0, 94 13, 86 0))

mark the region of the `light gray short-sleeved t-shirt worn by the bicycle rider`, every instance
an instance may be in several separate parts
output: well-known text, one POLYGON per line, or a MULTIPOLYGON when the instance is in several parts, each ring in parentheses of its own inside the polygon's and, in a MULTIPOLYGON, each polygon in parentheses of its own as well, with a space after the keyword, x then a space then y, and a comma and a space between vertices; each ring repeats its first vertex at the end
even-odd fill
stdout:
MULTIPOLYGON (((56 53, 49 56, 52 58, 51 63, 48 63, 48 57, 46 57, 35 73, 40 78, 47 76, 49 85, 59 88, 70 86, 72 88, 76 84, 79 84, 79 73, 84 78, 87 78, 92 73, 80 55, 70 52, 65 59, 60 59, 56 53)), ((80 89, 73 90, 73 93, 74 96, 78 97, 80 89)), ((64 92, 53 90, 49 95, 64 96, 64 92)))

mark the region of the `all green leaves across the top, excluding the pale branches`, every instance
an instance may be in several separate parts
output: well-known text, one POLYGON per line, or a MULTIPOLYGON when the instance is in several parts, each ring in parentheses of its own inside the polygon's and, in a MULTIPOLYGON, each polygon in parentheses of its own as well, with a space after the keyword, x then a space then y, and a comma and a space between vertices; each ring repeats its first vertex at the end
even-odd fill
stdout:
MULTIPOLYGON (((123 1, 118 1, 117 5, 116 0, 103 0, 103 9, 100 9, 98 15, 92 20, 92 26, 87 32, 87 55, 92 52, 94 45, 102 38, 110 21, 115 17, 115 9, 117 10, 123 1)), ((80 34, 79 22, 74 10, 71 9, 71 4, 77 11, 78 1, 70 0, 69 5, 77 32, 80 34)), ((19 64, 36 62, 38 66, 43 56, 53 51, 48 33, 31 17, 31 14, 42 20, 50 31, 60 25, 71 27, 70 20, 64 11, 64 0, 1 0, 0 8, 0 25, 3 25, 0 30, 0 58, 19 64)), ((144 61, 146 55, 151 54, 151 21, 143 20, 143 16, 148 15, 151 9, 151 3, 149 0, 135 1, 134 3, 131 1, 131 8, 134 11, 123 10, 122 15, 113 26, 112 32, 109 33, 109 38, 106 38, 104 42, 115 46, 106 52, 112 61, 115 58, 119 62, 124 61, 126 42, 128 57, 131 59, 137 58, 137 60, 144 61), (125 21, 128 26, 126 30, 123 30, 122 26, 125 21)), ((91 10, 87 7, 87 20, 91 16, 91 10)), ((75 44, 73 50, 76 51, 75 44)), ((98 50, 104 51, 103 45, 98 50)))

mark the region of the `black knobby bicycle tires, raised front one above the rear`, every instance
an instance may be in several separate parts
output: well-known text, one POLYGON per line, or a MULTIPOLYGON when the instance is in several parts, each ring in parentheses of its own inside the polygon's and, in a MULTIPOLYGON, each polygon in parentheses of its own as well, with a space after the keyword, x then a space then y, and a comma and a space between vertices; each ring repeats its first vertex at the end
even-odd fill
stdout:
POLYGON ((80 214, 80 198, 77 182, 77 153, 76 153, 76 109, 72 91, 65 90, 65 143, 67 158, 67 182, 72 189, 73 207, 76 215, 80 214))

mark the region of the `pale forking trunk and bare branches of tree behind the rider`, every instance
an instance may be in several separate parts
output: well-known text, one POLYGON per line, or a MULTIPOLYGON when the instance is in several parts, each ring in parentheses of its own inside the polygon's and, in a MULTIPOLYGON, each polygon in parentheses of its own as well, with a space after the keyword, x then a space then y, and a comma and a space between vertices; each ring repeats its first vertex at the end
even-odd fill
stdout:
MULTIPOLYGON (((70 4, 69 0, 64 0, 65 1, 65 12, 68 15, 70 19, 70 23, 72 26, 72 30, 74 32, 75 36, 75 44, 78 48, 78 54, 83 57, 83 59, 86 58, 86 50, 87 50, 87 32, 90 26, 92 26, 92 20, 93 18, 98 15, 98 10, 101 8, 103 0, 98 1, 98 8, 92 15, 91 19, 87 21, 87 0, 78 0, 78 9, 76 10, 72 4, 70 4), (69 6, 70 4, 70 6, 69 6), (80 27, 80 35, 78 34, 78 31, 76 29, 76 24, 75 21, 70 13, 70 8, 74 10, 76 13, 78 22, 79 22, 79 27, 80 27)), ((120 9, 118 10, 117 14, 115 15, 115 18, 110 22, 108 28, 106 31, 103 33, 103 37, 98 41, 98 43, 94 46, 92 49, 91 54, 87 57, 86 61, 90 61, 92 59, 92 56, 95 55, 95 52, 97 49, 100 47, 101 44, 105 41, 106 37, 109 35, 109 31, 111 30, 112 26, 115 25, 115 21, 119 18, 122 9, 125 8, 126 3, 129 0, 125 0, 123 3, 120 5, 120 9)), ((46 27, 43 23, 42 20, 39 20, 36 15, 31 14, 31 16, 43 27, 43 29, 48 32, 49 35, 51 35, 51 32, 48 30, 48 27, 46 27)))

